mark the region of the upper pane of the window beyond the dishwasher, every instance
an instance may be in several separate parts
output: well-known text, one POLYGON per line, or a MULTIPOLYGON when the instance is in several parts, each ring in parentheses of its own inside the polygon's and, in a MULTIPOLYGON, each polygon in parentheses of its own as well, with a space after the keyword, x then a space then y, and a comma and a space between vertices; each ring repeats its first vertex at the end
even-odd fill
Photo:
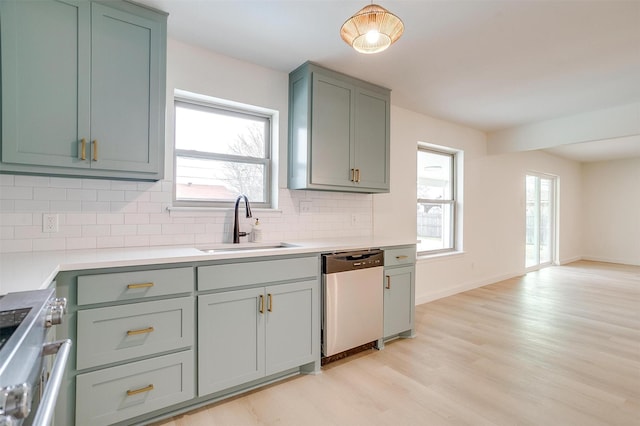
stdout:
POLYGON ((418 199, 453 199, 453 155, 418 150, 418 199))

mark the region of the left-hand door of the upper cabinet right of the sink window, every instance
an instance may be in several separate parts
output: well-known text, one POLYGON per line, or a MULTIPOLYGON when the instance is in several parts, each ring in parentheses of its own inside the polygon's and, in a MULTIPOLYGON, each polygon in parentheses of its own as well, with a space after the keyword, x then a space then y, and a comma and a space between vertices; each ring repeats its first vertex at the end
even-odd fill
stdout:
POLYGON ((313 73, 310 183, 352 186, 354 87, 313 73))

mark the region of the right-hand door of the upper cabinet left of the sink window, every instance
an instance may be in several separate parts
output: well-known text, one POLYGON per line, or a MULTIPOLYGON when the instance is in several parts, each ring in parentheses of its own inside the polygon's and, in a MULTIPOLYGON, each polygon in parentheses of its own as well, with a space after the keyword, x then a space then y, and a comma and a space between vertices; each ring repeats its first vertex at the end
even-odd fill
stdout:
POLYGON ((98 3, 91 12, 91 167, 157 172, 160 23, 98 3))

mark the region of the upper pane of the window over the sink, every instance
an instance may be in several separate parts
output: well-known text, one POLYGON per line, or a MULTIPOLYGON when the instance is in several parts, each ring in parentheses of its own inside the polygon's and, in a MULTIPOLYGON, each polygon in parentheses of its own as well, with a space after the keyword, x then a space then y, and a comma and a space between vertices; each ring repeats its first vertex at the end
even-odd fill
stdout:
POLYGON ((268 120, 176 103, 176 148, 265 158, 268 120))

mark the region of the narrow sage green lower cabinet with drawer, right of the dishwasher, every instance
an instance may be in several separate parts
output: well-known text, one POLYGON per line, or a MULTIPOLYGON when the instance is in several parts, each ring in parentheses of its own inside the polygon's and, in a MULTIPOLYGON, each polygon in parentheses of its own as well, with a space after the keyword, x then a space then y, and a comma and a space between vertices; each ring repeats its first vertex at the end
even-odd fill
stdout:
POLYGON ((415 335, 415 246, 384 251, 384 339, 415 335))

